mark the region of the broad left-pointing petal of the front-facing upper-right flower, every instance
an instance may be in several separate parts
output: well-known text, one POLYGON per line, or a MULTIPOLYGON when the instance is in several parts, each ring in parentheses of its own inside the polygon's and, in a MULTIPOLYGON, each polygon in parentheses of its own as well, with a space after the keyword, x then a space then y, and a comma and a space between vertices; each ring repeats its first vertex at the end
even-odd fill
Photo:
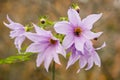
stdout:
POLYGON ((67 21, 57 22, 54 25, 54 29, 57 33, 68 34, 72 32, 72 27, 67 21))

